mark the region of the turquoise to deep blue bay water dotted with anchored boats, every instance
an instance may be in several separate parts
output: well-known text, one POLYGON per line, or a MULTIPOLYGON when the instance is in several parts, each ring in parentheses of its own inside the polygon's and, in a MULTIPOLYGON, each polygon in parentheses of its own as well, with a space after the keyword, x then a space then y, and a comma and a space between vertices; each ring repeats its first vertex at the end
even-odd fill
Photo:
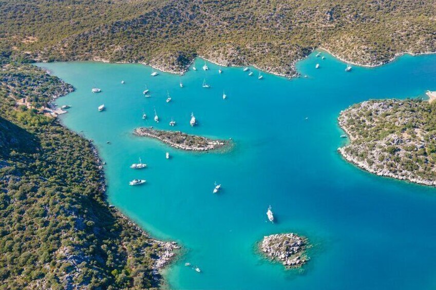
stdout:
POLYGON ((378 68, 354 67, 331 55, 298 63, 308 78, 264 74, 196 61, 184 76, 151 77, 143 65, 40 64, 76 91, 62 122, 94 140, 105 167, 109 201, 160 239, 183 245, 165 271, 175 289, 432 289, 436 287, 436 190, 373 176, 344 161, 337 115, 374 98, 423 96, 436 89, 436 55, 403 56, 378 68), (315 69, 315 64, 320 68, 315 69), (203 89, 203 79, 211 89, 203 89), (121 84, 125 80, 125 84, 121 84), (179 87, 182 80, 184 88, 179 87), (144 98, 145 85, 151 98, 144 98), (102 89, 92 94, 91 88, 102 89), (222 100, 225 89, 228 98, 222 100), (167 90, 173 101, 166 103, 167 90), (105 104, 106 111, 97 107, 105 104), (153 122, 154 108, 161 119, 153 122), (148 115, 142 120, 142 111, 148 115), (191 112, 198 126, 189 127, 191 112), (306 117, 308 118, 306 120, 306 117), (229 153, 191 153, 132 136, 155 126, 233 138, 229 153), (110 141, 111 144, 106 144, 110 141), (165 159, 165 152, 173 157, 165 159), (144 170, 132 170, 141 157, 144 170), (135 178, 147 180, 131 187, 135 178), (222 184, 212 194, 214 182, 222 184), (268 206, 277 223, 267 222, 268 206), (293 231, 314 247, 302 270, 264 261, 255 244, 293 231), (185 267, 191 262, 198 274, 185 267))

